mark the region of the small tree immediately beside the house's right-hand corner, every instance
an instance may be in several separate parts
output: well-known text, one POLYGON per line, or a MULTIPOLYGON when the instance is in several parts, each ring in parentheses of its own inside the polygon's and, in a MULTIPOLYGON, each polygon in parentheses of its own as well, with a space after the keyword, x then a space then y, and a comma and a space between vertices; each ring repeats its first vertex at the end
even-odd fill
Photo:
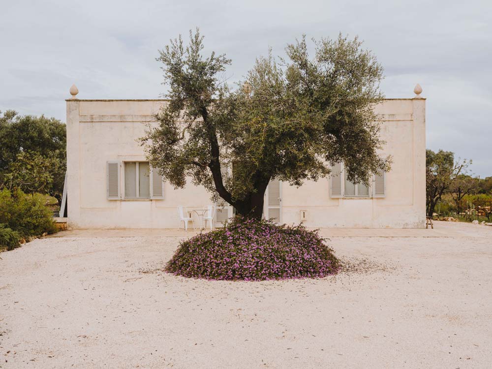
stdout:
POLYGON ((453 181, 471 164, 471 160, 458 160, 450 151, 426 151, 427 215, 432 216, 436 204, 451 187, 453 181))

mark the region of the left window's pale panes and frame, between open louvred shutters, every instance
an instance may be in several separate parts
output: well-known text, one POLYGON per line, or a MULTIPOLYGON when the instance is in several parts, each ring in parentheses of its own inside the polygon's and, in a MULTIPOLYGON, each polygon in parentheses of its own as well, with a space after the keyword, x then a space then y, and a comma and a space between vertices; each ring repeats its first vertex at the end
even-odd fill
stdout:
POLYGON ((124 162, 124 197, 144 198, 151 197, 150 166, 148 161, 124 162))

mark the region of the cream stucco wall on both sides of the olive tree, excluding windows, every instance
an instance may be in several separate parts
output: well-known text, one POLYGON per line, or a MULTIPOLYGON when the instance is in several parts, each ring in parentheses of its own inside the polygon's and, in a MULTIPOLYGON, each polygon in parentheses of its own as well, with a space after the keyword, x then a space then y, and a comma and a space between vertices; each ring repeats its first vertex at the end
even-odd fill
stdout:
MULTIPOLYGON (((107 200, 106 162, 145 160, 137 141, 164 100, 78 100, 67 107, 68 222, 73 228, 176 228, 177 206, 201 207, 210 194, 165 183, 163 200, 107 200)), ((425 99, 387 99, 375 107, 393 155, 385 198, 330 198, 329 180, 300 188, 282 184, 282 222, 308 227, 423 227, 425 223, 425 99)))

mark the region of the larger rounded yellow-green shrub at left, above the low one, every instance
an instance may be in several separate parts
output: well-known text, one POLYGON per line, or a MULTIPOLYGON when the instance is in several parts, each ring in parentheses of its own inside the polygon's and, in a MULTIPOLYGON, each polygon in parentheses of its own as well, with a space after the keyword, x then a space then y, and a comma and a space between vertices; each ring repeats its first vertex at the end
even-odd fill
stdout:
POLYGON ((26 239, 43 233, 55 233, 53 212, 45 203, 45 196, 41 194, 3 189, 0 191, 0 223, 7 224, 26 239))

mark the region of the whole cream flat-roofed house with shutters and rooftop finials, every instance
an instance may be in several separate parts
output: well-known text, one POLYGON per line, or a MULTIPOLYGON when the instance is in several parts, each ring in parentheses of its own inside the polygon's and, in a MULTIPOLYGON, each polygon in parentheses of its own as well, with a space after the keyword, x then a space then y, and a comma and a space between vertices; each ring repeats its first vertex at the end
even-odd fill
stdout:
MULTIPOLYGON (((299 188, 272 181, 264 215, 307 227, 423 228, 426 221, 426 100, 385 99, 382 154, 392 169, 375 175, 369 187, 352 184, 343 166, 330 178, 299 188)), ((138 142, 166 100, 66 100, 68 225, 72 228, 177 228, 178 206, 191 212, 211 204, 211 195, 191 183, 175 189, 149 167, 138 142)), ((233 215, 217 204, 215 222, 233 215)), ((198 215, 191 212, 198 225, 198 215)))

